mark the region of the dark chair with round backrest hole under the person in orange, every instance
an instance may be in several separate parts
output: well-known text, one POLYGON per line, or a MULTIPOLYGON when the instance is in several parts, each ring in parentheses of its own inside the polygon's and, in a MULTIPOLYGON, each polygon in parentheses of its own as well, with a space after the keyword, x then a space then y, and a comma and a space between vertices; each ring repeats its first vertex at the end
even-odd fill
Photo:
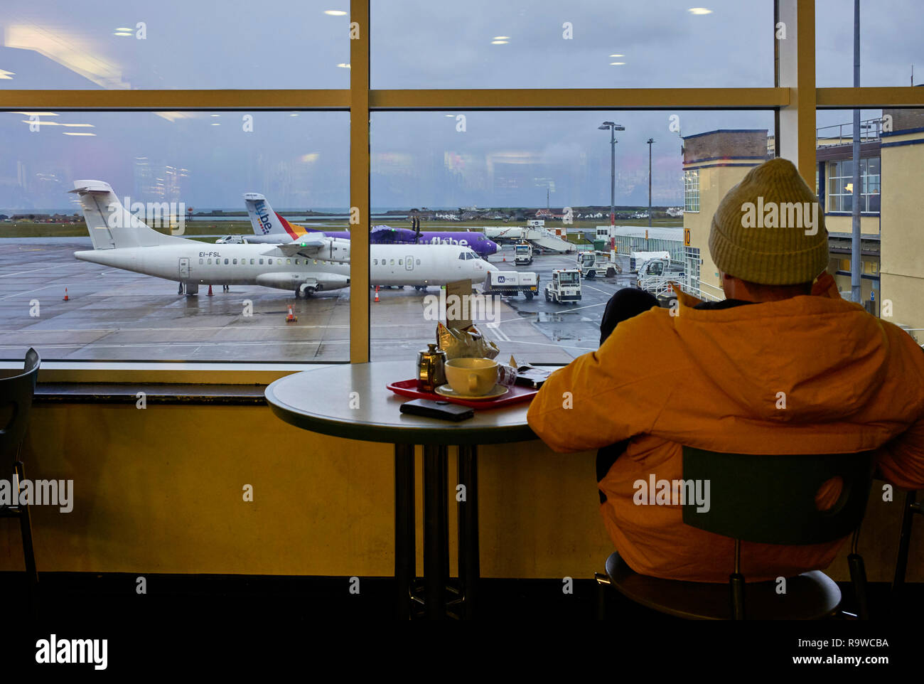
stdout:
POLYGON ((785 593, 777 591, 776 581, 746 583, 741 573, 741 543, 823 544, 853 532, 848 564, 857 594, 857 615, 845 615, 868 618, 866 570, 857 542, 872 483, 872 454, 748 456, 684 446, 683 479, 710 481, 710 507, 698 512, 694 502, 685 502, 683 521, 735 540, 729 583, 639 575, 614 553, 606 560, 606 574, 595 574, 602 588, 601 617, 607 585, 639 605, 686 619, 833 617, 842 596, 827 575, 812 570, 787 578, 785 593), (815 495, 823 482, 834 477, 841 478, 841 495, 833 507, 818 510, 815 495))

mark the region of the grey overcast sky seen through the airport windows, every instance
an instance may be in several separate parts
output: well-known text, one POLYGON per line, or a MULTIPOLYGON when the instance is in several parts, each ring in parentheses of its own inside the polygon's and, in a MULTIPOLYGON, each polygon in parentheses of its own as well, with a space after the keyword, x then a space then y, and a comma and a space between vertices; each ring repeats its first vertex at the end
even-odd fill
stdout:
MULTIPOLYGON (((862 6, 861 84, 908 85, 912 64, 924 80, 919 2, 862 6)), ((853 2, 817 7, 818 85, 849 86, 853 2)), ((338 0, 33 0, 0 17, 0 88, 346 88, 349 70, 338 65, 349 61, 348 18, 325 10, 348 9, 338 0)), ((373 0, 371 23, 379 89, 772 86, 771 0, 373 0), (699 2, 711 12, 690 12, 699 2)), ((168 167, 185 169, 168 199, 188 206, 242 208, 245 191, 276 207, 348 204, 346 113, 257 112, 252 130, 244 112, 58 114, 42 120, 59 125, 33 132, 29 116, 0 113, 0 211, 67 207, 67 189, 87 177, 157 199, 144 196, 149 178, 168 167)), ((373 206, 544 206, 547 191, 553 206, 608 203, 603 120, 626 127, 616 202, 648 202, 653 138, 653 202, 679 204, 672 114, 682 135, 772 132, 773 121, 748 111, 457 114, 372 115, 373 206)), ((819 125, 850 118, 821 112, 819 125)))

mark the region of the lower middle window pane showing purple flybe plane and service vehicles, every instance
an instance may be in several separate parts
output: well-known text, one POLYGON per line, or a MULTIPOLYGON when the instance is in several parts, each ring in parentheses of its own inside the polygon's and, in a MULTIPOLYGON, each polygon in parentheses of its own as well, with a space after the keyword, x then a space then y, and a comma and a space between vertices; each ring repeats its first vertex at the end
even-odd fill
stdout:
POLYGON ((711 208, 770 157, 772 112, 471 111, 465 131, 449 114, 372 113, 372 205, 395 207, 388 225, 408 231, 416 209, 432 256, 373 275, 372 285, 404 287, 382 287, 371 309, 372 360, 411 358, 433 341, 451 302, 420 287, 440 276, 471 281, 473 322, 498 359, 523 363, 596 349, 607 301, 638 282, 638 254, 665 255, 645 286, 660 295, 669 280, 686 282, 686 250, 695 248, 704 257, 697 287, 721 294, 711 208), (605 122, 618 127, 613 144, 605 122), (529 250, 518 254, 521 239, 529 250), (578 254, 594 251, 578 276, 578 254))

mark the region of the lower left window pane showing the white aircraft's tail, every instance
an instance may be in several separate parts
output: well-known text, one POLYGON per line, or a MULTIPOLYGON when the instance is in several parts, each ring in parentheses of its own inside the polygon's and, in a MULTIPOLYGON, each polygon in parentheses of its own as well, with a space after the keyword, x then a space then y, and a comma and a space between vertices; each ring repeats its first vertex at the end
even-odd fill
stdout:
MULTIPOLYGON (((323 290, 298 299, 288 274, 254 271, 278 251, 273 242, 292 240, 286 225, 346 229, 346 112, 23 111, 0 113, 0 357, 21 364, 34 347, 43 360, 348 360, 348 264, 318 266, 323 290), (75 181, 88 205, 105 198, 91 226, 80 193, 69 192, 75 181), (254 221, 245 192, 265 198, 254 221), (147 246, 118 207, 147 226, 147 246), (168 243, 188 254, 177 258, 168 243), (252 317, 241 318, 246 299, 252 317), (289 303, 294 324, 280 313, 289 303), (254 321, 267 331, 261 344, 254 321)), ((307 281, 310 269, 300 269, 307 281)))

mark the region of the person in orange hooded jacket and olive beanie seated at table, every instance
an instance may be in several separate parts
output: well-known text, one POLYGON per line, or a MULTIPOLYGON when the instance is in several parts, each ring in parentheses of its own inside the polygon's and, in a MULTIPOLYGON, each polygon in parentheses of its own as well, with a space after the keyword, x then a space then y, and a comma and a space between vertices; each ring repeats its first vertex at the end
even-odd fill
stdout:
MULTIPOLYGON (((898 326, 841 299, 825 273, 817 202, 792 163, 751 169, 712 218, 709 247, 726 299, 678 292, 675 309, 621 321, 599 350, 553 373, 529 407, 530 427, 555 451, 626 445, 598 486, 606 529, 639 573, 728 580, 731 539, 688 527, 679 506, 633 501, 634 483, 652 473, 683 479, 683 445, 740 454, 878 449, 889 482, 924 487, 924 352, 898 326), (792 202, 803 220, 785 226, 792 202), (776 221, 754 220, 755 209, 773 208, 776 221)), ((843 541, 743 544, 742 572, 756 581, 827 568, 843 541)))

